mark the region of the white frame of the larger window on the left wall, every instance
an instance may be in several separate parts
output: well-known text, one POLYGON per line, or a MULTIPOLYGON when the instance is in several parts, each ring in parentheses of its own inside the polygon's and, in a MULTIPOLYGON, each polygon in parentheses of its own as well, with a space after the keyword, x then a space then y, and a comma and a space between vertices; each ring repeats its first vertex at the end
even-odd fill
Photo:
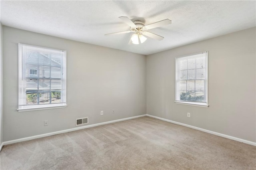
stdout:
MULTIPOLYGON (((67 107, 66 103, 66 51, 65 50, 60 50, 60 49, 52 49, 52 48, 47 48, 47 47, 40 47, 40 46, 35 46, 35 45, 27 45, 23 43, 18 43, 18 111, 36 111, 36 110, 44 110, 44 109, 55 109, 55 108, 63 108, 67 107), (46 50, 54 50, 54 51, 62 51, 63 52, 63 58, 62 58, 62 73, 63 76, 61 78, 61 86, 64 91, 62 92, 62 102, 61 103, 50 103, 50 104, 37 104, 37 105, 24 105, 26 101, 24 99, 24 95, 26 96, 26 80, 23 79, 23 53, 22 53, 22 47, 24 46, 29 46, 29 47, 36 47, 40 49, 46 49, 46 50)), ((38 70, 37 70, 38 74, 38 70)))

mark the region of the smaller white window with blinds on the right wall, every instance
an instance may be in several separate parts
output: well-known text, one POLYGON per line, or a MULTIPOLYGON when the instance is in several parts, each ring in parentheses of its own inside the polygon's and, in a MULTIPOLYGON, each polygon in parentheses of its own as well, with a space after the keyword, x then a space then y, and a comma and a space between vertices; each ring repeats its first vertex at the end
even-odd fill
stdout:
POLYGON ((175 102, 208 107, 208 52, 175 60, 175 102))

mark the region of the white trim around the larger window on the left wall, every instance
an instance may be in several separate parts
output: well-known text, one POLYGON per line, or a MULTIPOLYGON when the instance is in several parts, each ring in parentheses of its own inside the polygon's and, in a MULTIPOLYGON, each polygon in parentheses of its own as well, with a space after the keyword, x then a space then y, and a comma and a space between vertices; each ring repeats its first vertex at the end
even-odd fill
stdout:
MULTIPOLYGON (((18 67, 18 87, 19 87, 19 93, 18 95, 22 95, 22 90, 24 90, 23 88, 20 88, 20 79, 22 79, 22 67, 20 67, 20 65, 22 65, 22 45, 27 45, 27 44, 22 44, 22 43, 18 43, 18 63, 19 63, 19 67, 18 67)), ((52 49, 52 48, 47 48, 47 47, 40 47, 40 46, 35 46, 35 45, 29 45, 32 47, 39 47, 39 48, 45 48, 45 49, 52 49)), ((59 49, 53 49, 53 50, 59 50, 59 49)), ((63 55, 63 65, 66 66, 66 51, 65 50, 61 50, 64 52, 63 55)), ((67 68, 67 67, 66 67, 67 68)), ((64 77, 64 89, 66 89, 66 69, 63 69, 63 77, 64 77)), ((66 91, 67 93, 67 91, 66 91)), ((20 105, 20 99, 18 99, 18 112, 24 112, 24 111, 37 111, 37 110, 45 110, 45 109, 57 109, 57 108, 65 108, 67 107, 67 103, 66 103, 66 93, 63 95, 62 101, 64 101, 64 103, 53 103, 53 104, 45 104, 45 105, 20 105)))

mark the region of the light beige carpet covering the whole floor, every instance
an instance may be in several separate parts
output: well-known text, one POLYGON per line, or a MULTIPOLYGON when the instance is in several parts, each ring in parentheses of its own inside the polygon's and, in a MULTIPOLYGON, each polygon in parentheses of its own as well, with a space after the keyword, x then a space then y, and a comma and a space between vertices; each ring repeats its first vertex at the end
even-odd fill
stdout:
POLYGON ((256 147, 150 117, 4 146, 1 170, 255 170, 256 147))

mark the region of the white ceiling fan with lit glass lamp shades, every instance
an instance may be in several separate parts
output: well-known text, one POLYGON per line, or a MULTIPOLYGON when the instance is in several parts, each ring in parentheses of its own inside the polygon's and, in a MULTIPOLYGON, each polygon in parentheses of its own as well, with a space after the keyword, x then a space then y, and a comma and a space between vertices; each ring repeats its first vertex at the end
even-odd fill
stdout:
POLYGON ((144 43, 147 40, 146 37, 153 38, 153 39, 156 39, 156 40, 159 40, 159 41, 163 40, 164 37, 158 36, 158 35, 153 34, 151 32, 148 32, 147 30, 150 30, 152 28, 157 28, 157 27, 161 27, 161 26, 172 24, 171 20, 165 19, 165 20, 158 21, 158 22, 155 22, 153 24, 149 24, 149 25, 145 26, 144 23, 141 22, 140 20, 135 20, 134 22, 132 22, 126 16, 120 16, 119 18, 123 22, 128 24, 128 26, 130 26, 130 30, 122 31, 122 32, 114 32, 114 33, 110 33, 110 34, 105 34, 105 36, 115 35, 115 34, 126 34, 126 33, 130 33, 130 32, 134 32, 134 34, 132 35, 132 37, 130 39, 130 42, 129 42, 129 43, 132 42, 134 44, 144 43))

